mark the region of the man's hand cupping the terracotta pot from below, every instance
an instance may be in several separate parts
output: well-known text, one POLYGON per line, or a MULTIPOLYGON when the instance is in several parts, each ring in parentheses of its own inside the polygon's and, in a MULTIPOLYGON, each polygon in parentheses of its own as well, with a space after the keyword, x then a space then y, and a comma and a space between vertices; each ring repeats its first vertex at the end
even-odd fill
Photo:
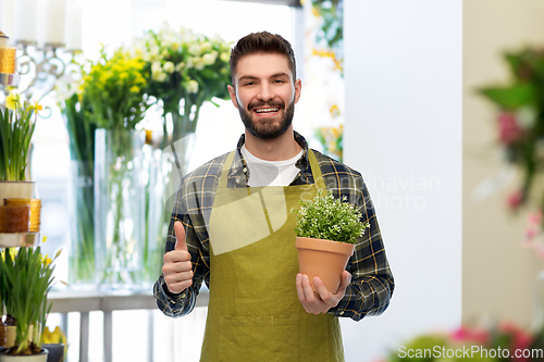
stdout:
POLYGON ((319 314, 326 313, 331 308, 338 305, 338 302, 346 294, 346 288, 351 282, 351 274, 347 271, 342 272, 342 282, 338 291, 335 295, 326 290, 323 282, 319 277, 313 278, 316 289, 319 296, 313 294, 311 288, 310 278, 306 274, 297 274, 297 292, 298 300, 308 313, 319 314))

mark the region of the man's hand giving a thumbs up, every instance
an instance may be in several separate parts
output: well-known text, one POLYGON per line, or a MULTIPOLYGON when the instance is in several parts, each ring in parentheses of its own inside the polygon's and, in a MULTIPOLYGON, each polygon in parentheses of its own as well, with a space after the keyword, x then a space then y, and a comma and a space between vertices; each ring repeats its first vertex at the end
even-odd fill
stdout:
POLYGON ((193 285, 193 265, 185 242, 185 229, 178 221, 174 223, 175 249, 164 254, 162 274, 169 290, 180 294, 193 285))

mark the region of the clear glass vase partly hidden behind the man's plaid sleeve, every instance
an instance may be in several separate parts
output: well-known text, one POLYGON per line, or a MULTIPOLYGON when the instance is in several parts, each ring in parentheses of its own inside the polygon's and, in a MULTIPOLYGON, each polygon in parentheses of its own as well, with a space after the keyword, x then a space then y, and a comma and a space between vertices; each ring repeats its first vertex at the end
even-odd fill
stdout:
POLYGON ((188 170, 195 134, 189 133, 163 150, 146 150, 146 242, 144 247, 144 280, 154 284, 161 274, 164 244, 174 208, 177 188, 188 170))

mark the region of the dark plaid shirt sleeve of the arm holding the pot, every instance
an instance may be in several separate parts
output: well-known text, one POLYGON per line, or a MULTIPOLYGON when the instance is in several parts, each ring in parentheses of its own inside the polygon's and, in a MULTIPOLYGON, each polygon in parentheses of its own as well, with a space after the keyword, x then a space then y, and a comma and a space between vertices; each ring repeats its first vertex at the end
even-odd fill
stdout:
POLYGON ((395 288, 374 205, 362 178, 361 183, 360 192, 357 192, 353 203, 362 214, 361 222, 368 222, 370 228, 357 239, 354 254, 347 264, 351 283, 346 288, 344 298, 338 305, 329 310, 335 316, 350 317, 354 321, 382 314, 388 307, 395 288))

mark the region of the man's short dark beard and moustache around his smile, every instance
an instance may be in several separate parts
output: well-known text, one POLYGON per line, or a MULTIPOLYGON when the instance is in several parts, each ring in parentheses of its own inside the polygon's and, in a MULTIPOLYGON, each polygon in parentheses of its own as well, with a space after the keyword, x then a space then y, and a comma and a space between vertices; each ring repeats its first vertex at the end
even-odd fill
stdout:
POLYGON ((238 112, 242 117, 242 122, 246 129, 255 137, 259 139, 273 139, 283 135, 290 126, 293 122, 293 115, 295 114, 295 101, 290 102, 290 104, 285 108, 284 102, 258 102, 258 103, 249 103, 247 110, 238 103, 238 112), (279 107, 285 111, 283 117, 280 120, 280 123, 270 122, 270 120, 263 118, 261 121, 251 120, 251 109, 256 107, 279 107))

